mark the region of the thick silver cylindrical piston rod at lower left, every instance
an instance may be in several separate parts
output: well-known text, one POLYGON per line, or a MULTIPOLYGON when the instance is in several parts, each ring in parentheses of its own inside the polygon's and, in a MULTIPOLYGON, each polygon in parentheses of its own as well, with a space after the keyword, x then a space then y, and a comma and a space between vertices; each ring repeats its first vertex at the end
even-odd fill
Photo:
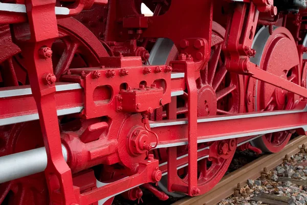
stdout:
MULTIPOLYGON (((67 149, 62 145, 67 161, 67 149)), ((0 157, 0 183, 43 172, 47 167, 45 147, 0 157)))

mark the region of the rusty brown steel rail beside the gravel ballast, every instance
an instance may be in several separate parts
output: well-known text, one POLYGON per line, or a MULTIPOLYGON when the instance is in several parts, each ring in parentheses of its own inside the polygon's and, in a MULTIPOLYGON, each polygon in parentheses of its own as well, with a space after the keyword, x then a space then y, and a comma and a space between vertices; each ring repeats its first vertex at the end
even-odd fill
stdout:
POLYGON ((210 192, 196 197, 183 198, 172 205, 213 205, 231 196, 237 184, 242 187, 247 185, 247 179, 257 179, 261 176, 264 168, 272 170, 283 162, 284 156, 294 155, 300 151, 300 146, 307 144, 306 136, 299 136, 289 142, 289 144, 279 153, 266 154, 250 162, 248 165, 226 175, 210 192))

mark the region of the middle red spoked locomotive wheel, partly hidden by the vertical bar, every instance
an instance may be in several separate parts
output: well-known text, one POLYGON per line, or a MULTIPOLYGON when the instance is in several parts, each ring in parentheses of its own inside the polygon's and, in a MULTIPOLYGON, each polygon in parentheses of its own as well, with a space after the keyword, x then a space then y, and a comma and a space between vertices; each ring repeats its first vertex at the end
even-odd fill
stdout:
MULTIPOLYGON (((226 70, 222 45, 224 42, 225 29, 213 22, 211 57, 208 66, 200 72, 201 76, 196 80, 198 87, 198 116, 223 115, 240 113, 244 110, 244 89, 243 77, 226 70)), ((153 47, 149 63, 153 65, 169 64, 170 60, 176 59, 178 50, 173 46, 171 40, 160 38, 153 47)), ((177 96, 177 118, 186 117, 188 93, 177 96)), ((204 148, 200 145, 199 150, 204 148)), ((229 158, 204 158, 199 161, 199 185, 207 187, 207 191, 213 188, 224 176, 231 162, 234 151, 229 153, 229 158)), ((167 159, 166 150, 160 149, 160 162, 167 159)), ((179 157, 187 153, 187 147, 179 147, 179 157)), ((187 179, 186 170, 178 170, 178 175, 185 181, 187 179)), ((182 193, 167 191, 167 176, 162 177, 159 183, 160 189, 173 197, 183 197, 182 193)))

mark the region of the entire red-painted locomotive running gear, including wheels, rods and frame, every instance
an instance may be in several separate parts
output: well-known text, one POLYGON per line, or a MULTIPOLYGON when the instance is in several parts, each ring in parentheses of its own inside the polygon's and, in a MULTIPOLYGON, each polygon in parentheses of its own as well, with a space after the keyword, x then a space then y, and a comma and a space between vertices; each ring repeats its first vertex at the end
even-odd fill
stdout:
POLYGON ((304 134, 307 13, 281 13, 271 0, 216 2, 3 2, 26 10, 0 11, 0 156, 45 146, 48 163, 45 175, 1 184, 0 203, 111 204, 121 193, 141 200, 142 185, 166 200, 149 184, 166 172, 168 191, 199 195, 237 145, 278 152, 304 134), (262 50, 259 25, 270 34, 262 50), (150 65, 160 37, 174 46, 150 65), (39 120, 14 124, 31 114, 39 120))

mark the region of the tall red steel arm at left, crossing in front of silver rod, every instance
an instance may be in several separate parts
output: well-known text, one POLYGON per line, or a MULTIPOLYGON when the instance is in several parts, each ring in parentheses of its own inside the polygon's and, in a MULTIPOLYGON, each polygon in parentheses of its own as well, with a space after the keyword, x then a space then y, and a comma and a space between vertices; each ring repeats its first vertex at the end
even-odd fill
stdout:
POLYGON ((47 151, 48 163, 45 170, 50 201, 74 204, 76 202, 71 170, 62 155, 55 102, 55 76, 51 48, 58 36, 55 16, 55 0, 32 0, 26 2, 29 23, 12 27, 13 40, 27 59, 28 75, 33 97, 36 102, 41 132, 47 151), (41 11, 44 12, 41 12, 41 11), (46 27, 48 25, 48 27, 46 27), (24 29, 30 28, 31 36, 24 36, 24 29), (60 201, 54 192, 60 190, 60 201))

